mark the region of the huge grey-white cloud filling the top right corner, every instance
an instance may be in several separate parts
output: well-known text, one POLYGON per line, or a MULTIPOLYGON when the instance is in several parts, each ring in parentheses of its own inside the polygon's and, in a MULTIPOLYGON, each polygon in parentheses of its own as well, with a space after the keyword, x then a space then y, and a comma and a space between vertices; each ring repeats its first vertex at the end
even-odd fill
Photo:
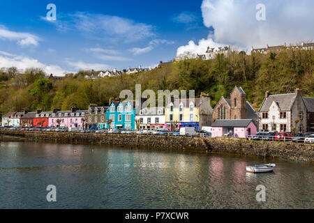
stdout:
MULTIPOLYGON (((240 49, 313 40, 313 8, 311 0, 203 0, 201 6, 204 25, 214 28, 209 43, 230 44, 240 49), (265 21, 256 20, 257 3, 266 6, 265 21)), ((204 53, 207 46, 203 47, 204 53)), ((179 49, 181 52, 182 48, 179 49)), ((199 52, 200 45, 189 43, 187 49, 199 52)))

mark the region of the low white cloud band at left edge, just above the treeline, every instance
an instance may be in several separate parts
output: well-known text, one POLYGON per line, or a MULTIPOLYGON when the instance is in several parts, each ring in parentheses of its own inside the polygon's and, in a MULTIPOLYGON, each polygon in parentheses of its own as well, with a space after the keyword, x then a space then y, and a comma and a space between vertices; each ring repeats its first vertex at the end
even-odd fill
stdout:
POLYGON ((32 59, 26 56, 15 56, 7 52, 0 52, 0 67, 10 68, 16 67, 19 70, 25 70, 27 68, 40 68, 44 70, 47 74, 52 73, 53 75, 64 75, 66 70, 63 70, 57 65, 47 65, 45 63, 40 63, 36 59, 32 59))

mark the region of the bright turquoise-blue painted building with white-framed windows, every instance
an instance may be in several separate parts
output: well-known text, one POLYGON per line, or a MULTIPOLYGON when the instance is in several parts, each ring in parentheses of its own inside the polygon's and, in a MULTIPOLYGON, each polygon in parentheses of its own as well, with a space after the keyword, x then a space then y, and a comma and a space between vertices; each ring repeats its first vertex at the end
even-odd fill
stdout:
MULTIPOLYGON (((135 130, 135 102, 112 100, 106 112, 106 121, 111 119, 111 129, 135 130)), ((106 128, 109 128, 106 124, 106 128)))

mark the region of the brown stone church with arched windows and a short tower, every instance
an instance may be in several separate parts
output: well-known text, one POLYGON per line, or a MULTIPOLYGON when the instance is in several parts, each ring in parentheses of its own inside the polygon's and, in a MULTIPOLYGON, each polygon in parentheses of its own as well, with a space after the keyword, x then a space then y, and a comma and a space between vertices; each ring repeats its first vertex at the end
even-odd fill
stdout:
POLYGON ((253 119, 257 124, 258 113, 246 100, 246 93, 240 87, 234 86, 230 99, 221 97, 213 112, 213 123, 218 119, 253 119))

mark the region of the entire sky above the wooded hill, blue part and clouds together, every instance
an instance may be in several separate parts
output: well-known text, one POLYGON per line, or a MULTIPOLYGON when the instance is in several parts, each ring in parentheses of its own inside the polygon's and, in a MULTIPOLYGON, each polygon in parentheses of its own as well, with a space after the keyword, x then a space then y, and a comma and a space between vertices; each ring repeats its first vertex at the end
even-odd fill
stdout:
POLYGON ((0 68, 78 70, 156 66, 207 47, 311 42, 313 0, 43 1, 0 3, 0 68), (57 20, 46 19, 47 4, 57 20), (264 20, 257 20, 257 5, 264 20))

